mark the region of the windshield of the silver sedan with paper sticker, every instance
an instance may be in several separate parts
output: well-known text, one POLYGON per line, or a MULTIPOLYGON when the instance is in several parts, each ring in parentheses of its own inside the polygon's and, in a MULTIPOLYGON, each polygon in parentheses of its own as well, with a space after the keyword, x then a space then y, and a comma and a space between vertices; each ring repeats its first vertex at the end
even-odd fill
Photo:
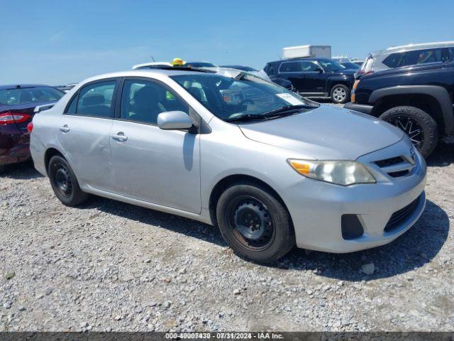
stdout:
POLYGON ((319 106, 283 87, 243 72, 234 78, 213 74, 175 75, 171 78, 212 114, 227 121, 245 117, 268 119, 275 117, 272 116, 275 111, 283 114, 287 109, 319 106))

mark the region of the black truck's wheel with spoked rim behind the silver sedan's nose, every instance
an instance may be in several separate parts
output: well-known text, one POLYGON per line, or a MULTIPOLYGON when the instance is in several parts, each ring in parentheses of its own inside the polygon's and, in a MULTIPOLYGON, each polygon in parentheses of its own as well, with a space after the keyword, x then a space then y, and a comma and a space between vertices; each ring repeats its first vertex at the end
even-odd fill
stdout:
POLYGON ((381 114, 380 119, 402 129, 424 158, 437 146, 437 122, 421 109, 394 107, 381 114))

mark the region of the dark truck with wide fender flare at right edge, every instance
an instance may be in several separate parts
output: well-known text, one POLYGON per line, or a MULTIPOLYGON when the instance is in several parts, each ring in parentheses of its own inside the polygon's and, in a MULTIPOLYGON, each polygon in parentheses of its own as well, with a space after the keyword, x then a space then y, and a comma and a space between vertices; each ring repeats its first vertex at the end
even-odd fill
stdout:
POLYGON ((454 61, 363 75, 345 108, 380 117, 402 129, 427 157, 439 137, 454 134, 454 61))

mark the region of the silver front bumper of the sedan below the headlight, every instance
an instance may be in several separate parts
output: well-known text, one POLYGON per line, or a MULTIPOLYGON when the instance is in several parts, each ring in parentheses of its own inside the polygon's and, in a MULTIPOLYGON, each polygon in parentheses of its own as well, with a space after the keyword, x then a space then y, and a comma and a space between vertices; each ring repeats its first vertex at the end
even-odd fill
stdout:
POLYGON ((426 163, 419 154, 416 158, 415 168, 401 178, 346 187, 304 178, 287 188, 283 199, 292 216, 297 247, 345 253, 387 244, 406 232, 426 204, 426 163), (416 202, 412 209, 386 232, 384 228, 394 212, 411 202, 416 202), (364 234, 344 239, 342 215, 356 215, 364 234))

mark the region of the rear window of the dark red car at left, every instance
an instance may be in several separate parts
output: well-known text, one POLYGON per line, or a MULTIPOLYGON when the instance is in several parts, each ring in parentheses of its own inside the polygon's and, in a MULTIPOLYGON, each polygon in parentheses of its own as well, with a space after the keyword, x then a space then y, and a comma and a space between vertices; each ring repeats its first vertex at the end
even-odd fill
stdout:
POLYGON ((53 87, 24 87, 0 90, 0 104, 20 105, 29 103, 52 102, 65 93, 53 87))

